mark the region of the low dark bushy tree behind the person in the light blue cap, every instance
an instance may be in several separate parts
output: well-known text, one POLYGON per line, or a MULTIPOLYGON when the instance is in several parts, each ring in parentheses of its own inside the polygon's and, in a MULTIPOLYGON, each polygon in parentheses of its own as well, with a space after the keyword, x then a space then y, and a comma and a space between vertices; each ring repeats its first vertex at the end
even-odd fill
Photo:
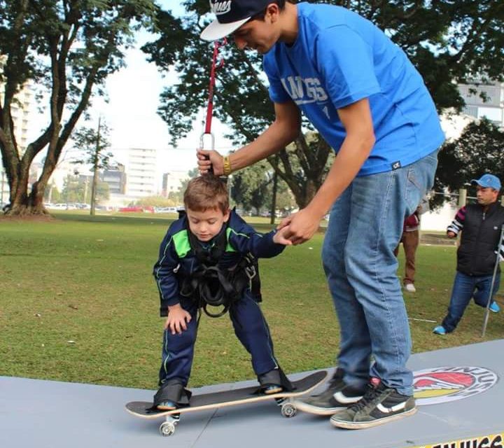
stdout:
MULTIPOLYGON (((444 144, 439 154, 434 189, 457 191, 467 188, 471 179, 491 173, 504 180, 504 131, 489 120, 469 123, 461 137, 444 144)), ((433 205, 444 198, 435 196, 433 205)))

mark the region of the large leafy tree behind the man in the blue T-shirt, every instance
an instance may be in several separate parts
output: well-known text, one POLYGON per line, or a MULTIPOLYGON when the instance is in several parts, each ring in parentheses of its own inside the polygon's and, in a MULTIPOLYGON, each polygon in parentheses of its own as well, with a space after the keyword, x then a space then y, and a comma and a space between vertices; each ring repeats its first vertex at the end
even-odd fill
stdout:
MULTIPOLYGON (((314 1, 312 1, 314 2, 314 1)), ((356 11, 384 29, 423 75, 437 109, 461 109, 456 83, 472 76, 498 79, 504 66, 504 3, 501 0, 328 0, 356 11)), ((160 11, 160 38, 144 46, 161 69, 174 68, 179 82, 162 93, 159 113, 173 143, 193 126, 207 102, 212 45, 199 34, 207 25, 206 0, 183 1, 186 14, 160 11)), ((274 118, 261 57, 228 44, 221 49, 224 65, 217 71, 215 115, 232 130, 235 143, 251 141, 274 118)), ((304 123, 307 125, 307 123, 304 123)), ((217 139, 218 141, 218 139, 217 139)), ((331 150, 322 139, 304 135, 278 157, 269 158, 303 207, 323 181, 331 150)))

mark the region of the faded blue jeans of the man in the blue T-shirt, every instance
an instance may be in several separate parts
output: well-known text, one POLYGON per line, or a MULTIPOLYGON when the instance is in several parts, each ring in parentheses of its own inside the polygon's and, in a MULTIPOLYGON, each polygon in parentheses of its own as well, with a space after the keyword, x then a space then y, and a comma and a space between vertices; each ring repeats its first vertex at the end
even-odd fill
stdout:
POLYGON ((339 318, 338 366, 347 384, 370 375, 413 394, 409 323, 393 253, 402 224, 432 187, 437 151, 390 172, 358 177, 330 211, 322 260, 339 318), (370 367, 370 358, 374 364, 370 367))

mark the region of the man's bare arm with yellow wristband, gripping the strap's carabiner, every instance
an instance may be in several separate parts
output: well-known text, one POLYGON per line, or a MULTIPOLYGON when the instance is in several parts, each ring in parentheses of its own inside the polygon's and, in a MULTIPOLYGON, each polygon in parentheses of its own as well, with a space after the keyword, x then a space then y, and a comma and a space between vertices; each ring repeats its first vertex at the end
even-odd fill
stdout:
MULTIPOLYGON (((267 158, 285 148, 297 137, 301 127, 301 116, 294 102, 275 103, 274 110, 275 120, 272 125, 251 144, 230 154, 232 171, 248 167, 267 158)), ((208 172, 212 165, 216 176, 224 174, 223 157, 217 151, 200 149, 197 152, 197 158, 200 173, 208 172)))

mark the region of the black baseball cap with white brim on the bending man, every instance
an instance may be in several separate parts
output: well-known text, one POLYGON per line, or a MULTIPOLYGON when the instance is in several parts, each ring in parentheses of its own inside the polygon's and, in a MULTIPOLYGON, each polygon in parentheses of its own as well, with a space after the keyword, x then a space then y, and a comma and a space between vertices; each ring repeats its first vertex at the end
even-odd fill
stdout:
POLYGON ((200 35, 204 41, 228 36, 254 15, 265 10, 271 0, 210 0, 211 12, 217 18, 200 35))

